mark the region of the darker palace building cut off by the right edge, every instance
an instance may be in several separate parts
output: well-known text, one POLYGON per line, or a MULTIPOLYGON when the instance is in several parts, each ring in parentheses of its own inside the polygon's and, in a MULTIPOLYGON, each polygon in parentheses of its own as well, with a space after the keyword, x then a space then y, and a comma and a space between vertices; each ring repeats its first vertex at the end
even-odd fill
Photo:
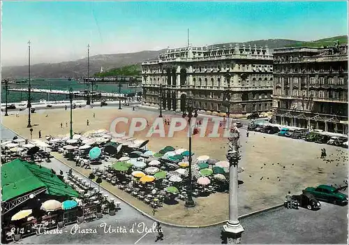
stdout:
POLYGON ((274 50, 277 123, 348 133, 348 46, 274 50))

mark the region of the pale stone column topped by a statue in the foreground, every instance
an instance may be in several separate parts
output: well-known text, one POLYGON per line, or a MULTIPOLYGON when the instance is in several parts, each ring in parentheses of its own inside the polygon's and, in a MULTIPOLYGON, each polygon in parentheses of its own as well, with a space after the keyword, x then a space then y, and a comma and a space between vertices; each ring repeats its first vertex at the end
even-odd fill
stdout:
POLYGON ((237 170, 238 163, 241 158, 239 155, 239 129, 236 124, 233 124, 230 129, 230 138, 228 138, 229 149, 226 154, 230 163, 229 169, 229 220, 223 225, 223 232, 227 239, 228 244, 240 244, 242 232, 244 228, 239 223, 238 209, 237 209, 237 190, 238 190, 238 178, 237 170))

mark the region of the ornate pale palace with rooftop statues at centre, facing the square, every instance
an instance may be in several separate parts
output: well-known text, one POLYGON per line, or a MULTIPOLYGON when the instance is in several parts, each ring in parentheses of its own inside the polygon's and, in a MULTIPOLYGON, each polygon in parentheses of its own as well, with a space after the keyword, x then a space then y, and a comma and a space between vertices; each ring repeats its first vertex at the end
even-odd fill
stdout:
MULTIPOLYGON (((168 49, 142 63, 143 103, 184 112, 194 108, 227 112, 223 95, 230 91, 230 113, 272 110, 273 57, 266 47, 188 47, 168 49)), ((225 103, 226 105, 226 103, 225 103)))

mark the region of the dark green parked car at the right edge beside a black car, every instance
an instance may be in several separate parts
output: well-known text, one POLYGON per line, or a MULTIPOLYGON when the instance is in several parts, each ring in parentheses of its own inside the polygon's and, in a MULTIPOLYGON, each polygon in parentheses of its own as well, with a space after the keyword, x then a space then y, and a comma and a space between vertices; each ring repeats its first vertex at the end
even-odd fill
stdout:
POLYGON ((316 188, 307 187, 303 190, 303 193, 310 193, 318 200, 332 202, 333 204, 345 205, 348 203, 348 195, 341 193, 337 188, 325 184, 316 188))

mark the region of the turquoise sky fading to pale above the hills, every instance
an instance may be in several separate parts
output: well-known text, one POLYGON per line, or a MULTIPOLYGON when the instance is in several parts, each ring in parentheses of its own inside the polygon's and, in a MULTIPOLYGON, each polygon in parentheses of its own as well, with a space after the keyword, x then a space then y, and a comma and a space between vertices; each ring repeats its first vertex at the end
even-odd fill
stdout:
POLYGON ((348 35, 347 1, 2 1, 1 64, 269 38, 348 35))

